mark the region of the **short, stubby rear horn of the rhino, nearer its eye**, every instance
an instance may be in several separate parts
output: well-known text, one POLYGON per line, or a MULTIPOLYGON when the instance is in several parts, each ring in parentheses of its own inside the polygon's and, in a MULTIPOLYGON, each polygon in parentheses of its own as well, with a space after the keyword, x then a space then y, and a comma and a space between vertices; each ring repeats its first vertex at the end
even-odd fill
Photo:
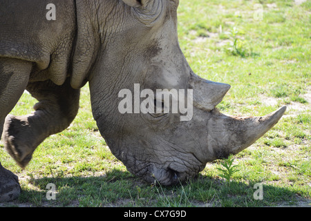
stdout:
POLYGON ((219 104, 231 86, 202 79, 191 73, 190 85, 194 89, 194 106, 211 111, 219 104))

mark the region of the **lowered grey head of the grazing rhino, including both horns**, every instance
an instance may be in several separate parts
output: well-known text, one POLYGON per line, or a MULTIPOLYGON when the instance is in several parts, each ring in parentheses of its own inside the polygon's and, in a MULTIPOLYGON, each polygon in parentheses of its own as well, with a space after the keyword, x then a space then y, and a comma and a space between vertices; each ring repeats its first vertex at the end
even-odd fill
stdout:
POLYGON ((98 5, 94 38, 100 44, 88 77, 93 115, 112 153, 131 173, 164 185, 242 151, 286 109, 265 117, 217 111, 230 86, 193 73, 178 44, 177 8, 178 0, 98 5), (164 89, 175 103, 158 96, 164 89))

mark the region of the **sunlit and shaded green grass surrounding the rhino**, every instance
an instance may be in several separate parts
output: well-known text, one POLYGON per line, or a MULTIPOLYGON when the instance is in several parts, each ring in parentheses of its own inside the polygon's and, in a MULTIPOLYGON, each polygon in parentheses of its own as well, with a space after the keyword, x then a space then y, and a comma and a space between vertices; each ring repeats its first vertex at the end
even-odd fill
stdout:
MULTIPOLYGON (((191 68, 232 85, 220 111, 265 115, 288 105, 272 130, 234 156, 239 171, 230 185, 218 175, 221 160, 176 186, 131 175, 100 136, 86 85, 73 124, 48 137, 25 171, 0 146, 1 163, 19 175, 23 190, 1 206, 310 206, 310 9, 310 1, 180 1, 180 46, 191 68), (256 3, 263 5, 262 20, 254 19, 256 3), (232 30, 238 32, 228 36, 232 30), (228 52, 234 38, 244 56, 228 52), (57 187, 56 200, 46 199, 48 183, 57 187), (257 183, 263 200, 254 199, 257 183)), ((12 114, 26 115, 33 104, 24 93, 12 114)))

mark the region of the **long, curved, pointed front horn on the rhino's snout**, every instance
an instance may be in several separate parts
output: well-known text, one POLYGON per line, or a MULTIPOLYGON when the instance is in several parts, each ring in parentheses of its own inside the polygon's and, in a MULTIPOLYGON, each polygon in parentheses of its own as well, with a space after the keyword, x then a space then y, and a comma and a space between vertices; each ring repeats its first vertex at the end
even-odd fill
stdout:
POLYGON ((207 123, 207 161, 236 154, 252 145, 274 126, 286 111, 286 106, 264 117, 231 117, 211 111, 213 114, 207 123))

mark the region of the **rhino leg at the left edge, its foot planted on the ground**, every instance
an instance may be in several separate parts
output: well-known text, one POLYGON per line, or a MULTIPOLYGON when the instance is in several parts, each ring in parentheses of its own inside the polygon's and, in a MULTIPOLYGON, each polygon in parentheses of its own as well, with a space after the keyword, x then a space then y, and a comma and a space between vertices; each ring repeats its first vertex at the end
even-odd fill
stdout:
MULTIPOLYGON (((4 119, 23 94, 31 68, 28 61, 0 57, 0 139, 4 119)), ((0 202, 14 200, 20 192, 17 175, 0 163, 0 202)))

